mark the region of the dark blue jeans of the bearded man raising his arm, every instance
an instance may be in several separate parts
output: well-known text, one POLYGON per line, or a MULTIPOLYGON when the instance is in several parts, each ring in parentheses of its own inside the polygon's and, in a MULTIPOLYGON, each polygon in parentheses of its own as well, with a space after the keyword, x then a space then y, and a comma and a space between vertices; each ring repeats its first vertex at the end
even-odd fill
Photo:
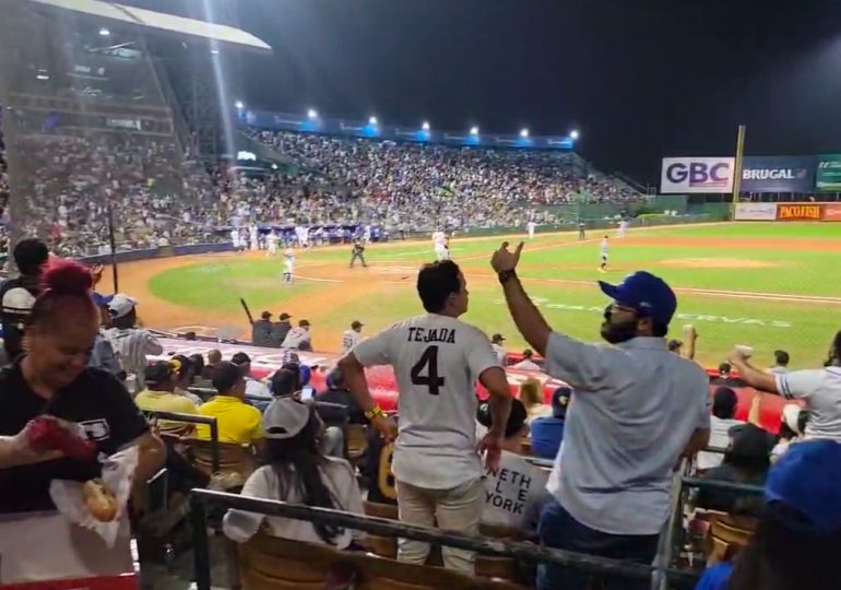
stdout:
MULTIPOLYGON (((554 498, 543 508, 537 527, 541 543, 547 547, 585 553, 613 559, 651 565, 658 553, 656 534, 609 534, 577 521, 554 498)), ((537 567, 537 590, 588 590, 593 579, 605 590, 648 590, 650 580, 599 576, 583 569, 542 564, 537 567)))

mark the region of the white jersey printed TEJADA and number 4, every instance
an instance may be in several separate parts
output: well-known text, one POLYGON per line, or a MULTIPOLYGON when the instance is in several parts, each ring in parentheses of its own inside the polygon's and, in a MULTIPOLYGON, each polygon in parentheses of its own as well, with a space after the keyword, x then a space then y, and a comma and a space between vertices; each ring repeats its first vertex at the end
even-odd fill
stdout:
POLYGON ((451 489, 482 477, 475 382, 500 365, 479 329, 427 314, 360 342, 353 354, 366 367, 394 367, 400 430, 392 469, 398 481, 451 489))

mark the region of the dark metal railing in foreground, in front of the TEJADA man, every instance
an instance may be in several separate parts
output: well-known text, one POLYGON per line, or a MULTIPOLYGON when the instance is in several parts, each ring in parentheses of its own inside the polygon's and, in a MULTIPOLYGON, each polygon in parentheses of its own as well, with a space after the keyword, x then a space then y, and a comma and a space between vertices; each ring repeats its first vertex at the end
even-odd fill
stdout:
POLYGON ((547 548, 529 543, 510 542, 458 532, 441 531, 438 529, 417 527, 383 518, 359 516, 327 508, 313 508, 284 502, 239 496, 237 494, 212 492, 210 489, 193 489, 190 495, 190 514, 192 519, 196 582, 198 590, 211 590, 206 523, 208 506, 220 506, 262 514, 265 516, 304 520, 307 522, 328 523, 378 535, 400 536, 414 541, 462 548, 483 555, 495 555, 499 557, 524 559, 533 563, 575 567, 605 576, 621 576, 637 580, 648 580, 651 579, 652 574, 661 571, 674 588, 692 588, 698 581, 697 575, 673 568, 655 568, 649 565, 547 548))

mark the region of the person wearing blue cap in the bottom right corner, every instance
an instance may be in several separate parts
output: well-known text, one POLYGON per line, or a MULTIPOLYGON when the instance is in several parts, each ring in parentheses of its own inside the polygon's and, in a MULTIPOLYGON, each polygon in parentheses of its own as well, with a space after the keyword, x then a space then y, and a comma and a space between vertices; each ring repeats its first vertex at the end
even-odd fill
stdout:
POLYGON ((841 588, 841 444, 809 440, 774 463, 766 508, 735 562, 704 571, 696 590, 841 588))

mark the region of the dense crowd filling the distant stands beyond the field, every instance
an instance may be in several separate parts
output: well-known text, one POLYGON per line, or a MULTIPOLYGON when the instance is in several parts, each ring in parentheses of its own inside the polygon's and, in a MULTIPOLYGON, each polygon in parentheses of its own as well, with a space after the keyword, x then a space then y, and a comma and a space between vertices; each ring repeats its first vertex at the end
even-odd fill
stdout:
MULTIPOLYGON (((251 130, 298 168, 254 175, 183 162, 173 138, 8 116, 28 129, 15 140, 22 235, 43 236, 60 256, 110 253, 109 210, 117 249, 134 250, 228 240, 232 227, 358 224, 405 235, 554 224, 542 205, 639 198, 584 173, 572 154, 251 130)), ((4 200, 7 188, 8 217, 4 200)))

